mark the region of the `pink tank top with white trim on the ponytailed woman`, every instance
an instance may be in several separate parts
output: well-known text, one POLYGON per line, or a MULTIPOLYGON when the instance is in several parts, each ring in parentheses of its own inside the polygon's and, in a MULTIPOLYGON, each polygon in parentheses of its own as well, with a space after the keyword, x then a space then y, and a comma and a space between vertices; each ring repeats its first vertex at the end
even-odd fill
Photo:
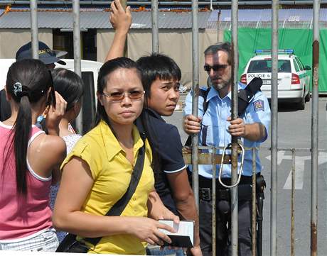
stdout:
MULTIPOLYGON (((33 126, 28 146, 42 133, 43 130, 33 126)), ((51 177, 40 177, 27 162, 28 192, 26 197, 18 196, 14 150, 9 152, 4 168, 4 156, 10 145, 7 141, 12 138, 11 126, 0 122, 0 240, 24 238, 52 226, 48 206, 51 177)))

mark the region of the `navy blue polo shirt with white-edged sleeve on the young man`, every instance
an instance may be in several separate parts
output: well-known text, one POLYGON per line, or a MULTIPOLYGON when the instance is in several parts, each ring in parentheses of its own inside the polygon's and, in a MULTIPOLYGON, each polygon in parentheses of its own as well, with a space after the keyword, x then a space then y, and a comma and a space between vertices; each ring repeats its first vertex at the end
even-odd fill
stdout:
POLYGON ((151 132, 154 133, 154 145, 151 145, 152 151, 157 152, 161 168, 154 170, 156 192, 159 194, 164 205, 173 213, 177 214, 176 204, 173 201, 173 193, 167 175, 175 172, 181 172, 186 168, 183 160, 181 135, 176 126, 166 123, 156 111, 145 108, 146 119, 149 121, 151 132))

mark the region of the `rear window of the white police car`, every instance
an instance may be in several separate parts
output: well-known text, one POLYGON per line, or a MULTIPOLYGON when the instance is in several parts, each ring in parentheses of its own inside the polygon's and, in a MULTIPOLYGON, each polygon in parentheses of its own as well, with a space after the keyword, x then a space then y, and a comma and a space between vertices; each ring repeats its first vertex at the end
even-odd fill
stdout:
MULTIPOLYGON (((291 72, 289 60, 278 60, 279 72, 291 72)), ((272 72, 272 60, 252 60, 247 73, 265 73, 272 72)))

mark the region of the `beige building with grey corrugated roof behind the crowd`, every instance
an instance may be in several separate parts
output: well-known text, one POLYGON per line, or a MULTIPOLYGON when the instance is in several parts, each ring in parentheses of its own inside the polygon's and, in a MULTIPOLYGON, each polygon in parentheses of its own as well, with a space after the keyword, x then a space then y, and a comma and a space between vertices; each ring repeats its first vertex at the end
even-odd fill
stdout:
MULTIPOLYGON (((151 11, 133 11, 133 24, 127 38, 127 56, 137 60, 151 52, 151 11)), ((206 84, 203 71, 203 51, 222 38, 222 33, 210 28, 210 12, 198 13, 200 85, 206 84)), ((181 84, 192 83, 192 13, 176 11, 159 12, 159 52, 172 57, 181 67, 181 84)), ((11 10, 0 13, 0 58, 14 58, 16 50, 31 40, 30 13, 28 10, 11 10)), ((80 13, 82 58, 103 62, 114 30, 109 23, 109 12, 87 9, 80 13)), ((55 50, 68 51, 73 58, 73 13, 71 10, 38 11, 39 40, 55 50)))

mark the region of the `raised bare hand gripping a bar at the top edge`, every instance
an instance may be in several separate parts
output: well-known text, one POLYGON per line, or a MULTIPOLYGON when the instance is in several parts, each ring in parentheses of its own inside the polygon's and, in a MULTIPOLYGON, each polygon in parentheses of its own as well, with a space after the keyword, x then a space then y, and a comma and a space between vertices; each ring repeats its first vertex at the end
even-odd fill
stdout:
POLYGON ((112 23, 114 30, 127 33, 132 25, 131 7, 127 6, 125 11, 120 0, 112 1, 110 4, 110 23, 112 23))

